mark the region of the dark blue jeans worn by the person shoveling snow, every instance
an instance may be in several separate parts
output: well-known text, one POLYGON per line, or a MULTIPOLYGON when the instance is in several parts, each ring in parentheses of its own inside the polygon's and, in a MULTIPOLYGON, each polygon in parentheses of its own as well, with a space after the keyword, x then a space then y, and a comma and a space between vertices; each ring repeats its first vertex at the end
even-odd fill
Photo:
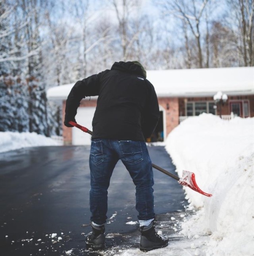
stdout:
MULTIPOLYGON (((114 167, 121 160, 136 186, 136 209, 139 220, 155 217, 152 163, 146 143, 142 141, 117 141, 92 139, 90 150, 90 211, 91 221, 106 223, 108 187, 114 167)), ((119 191, 121 193, 121 191, 119 191)))

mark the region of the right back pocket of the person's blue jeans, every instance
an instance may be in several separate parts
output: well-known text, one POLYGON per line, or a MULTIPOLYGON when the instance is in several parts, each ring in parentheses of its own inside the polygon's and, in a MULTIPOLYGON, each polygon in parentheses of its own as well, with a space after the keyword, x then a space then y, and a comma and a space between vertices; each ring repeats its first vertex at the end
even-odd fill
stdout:
POLYGON ((139 141, 118 141, 126 161, 137 164, 143 160, 142 148, 139 141))

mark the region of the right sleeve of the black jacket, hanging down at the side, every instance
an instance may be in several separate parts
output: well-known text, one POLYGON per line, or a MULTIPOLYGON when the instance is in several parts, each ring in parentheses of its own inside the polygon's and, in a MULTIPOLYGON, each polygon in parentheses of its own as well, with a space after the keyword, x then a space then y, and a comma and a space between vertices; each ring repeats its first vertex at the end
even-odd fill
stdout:
POLYGON ((154 90, 154 86, 149 81, 148 83, 150 90, 148 92, 148 99, 146 101, 142 122, 142 132, 145 139, 151 137, 160 117, 158 98, 154 90))

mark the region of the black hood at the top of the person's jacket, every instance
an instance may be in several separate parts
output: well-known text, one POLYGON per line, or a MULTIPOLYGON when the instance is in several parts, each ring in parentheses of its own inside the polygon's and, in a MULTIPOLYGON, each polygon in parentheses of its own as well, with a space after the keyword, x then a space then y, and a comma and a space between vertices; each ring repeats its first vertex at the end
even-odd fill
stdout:
POLYGON ((142 65, 133 62, 115 62, 111 69, 119 70, 126 73, 141 75, 146 78, 146 71, 142 69, 142 65))

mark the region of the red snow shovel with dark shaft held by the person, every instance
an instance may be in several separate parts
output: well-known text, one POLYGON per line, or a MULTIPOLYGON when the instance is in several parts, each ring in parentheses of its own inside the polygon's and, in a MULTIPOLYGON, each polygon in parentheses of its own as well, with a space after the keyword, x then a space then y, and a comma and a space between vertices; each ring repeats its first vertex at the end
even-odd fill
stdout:
MULTIPOLYGON (((84 126, 81 126, 73 121, 69 121, 69 124, 81 129, 81 131, 83 131, 85 133, 89 133, 90 135, 92 135, 92 131, 90 131, 89 129, 87 129, 84 126)), ((200 194, 203 194, 204 196, 209 196, 209 197, 212 196, 212 194, 208 194, 208 193, 202 191, 198 187, 196 180, 195 180, 195 174, 191 171, 183 171, 183 173, 182 173, 183 177, 179 178, 178 176, 174 175, 173 173, 170 173, 170 172, 166 171, 165 169, 163 169, 162 167, 156 166, 155 164, 152 164, 152 167, 154 167, 158 171, 165 173, 166 175, 172 177, 173 179, 176 179, 178 181, 178 183, 183 186, 189 187, 189 188, 193 189, 194 191, 196 191, 200 194)))

